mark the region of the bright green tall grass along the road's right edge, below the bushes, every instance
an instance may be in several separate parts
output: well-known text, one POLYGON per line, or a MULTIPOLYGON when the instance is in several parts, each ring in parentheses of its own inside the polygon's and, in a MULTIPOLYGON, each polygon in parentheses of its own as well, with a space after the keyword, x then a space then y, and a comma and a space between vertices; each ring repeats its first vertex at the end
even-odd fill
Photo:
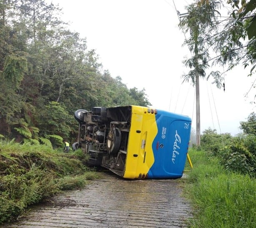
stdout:
POLYGON ((188 227, 255 228, 255 179, 226 171, 206 152, 191 149, 189 155, 193 169, 188 172, 185 194, 194 217, 188 227))

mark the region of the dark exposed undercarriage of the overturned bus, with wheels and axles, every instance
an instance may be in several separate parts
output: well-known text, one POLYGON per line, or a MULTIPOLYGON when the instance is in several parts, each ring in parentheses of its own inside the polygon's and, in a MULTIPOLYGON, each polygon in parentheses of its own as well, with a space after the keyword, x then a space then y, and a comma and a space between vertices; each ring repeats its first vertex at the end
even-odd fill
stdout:
POLYGON ((78 142, 89 155, 88 165, 101 166, 123 176, 127 142, 131 126, 131 106, 114 108, 94 107, 90 112, 75 111, 79 122, 78 142))

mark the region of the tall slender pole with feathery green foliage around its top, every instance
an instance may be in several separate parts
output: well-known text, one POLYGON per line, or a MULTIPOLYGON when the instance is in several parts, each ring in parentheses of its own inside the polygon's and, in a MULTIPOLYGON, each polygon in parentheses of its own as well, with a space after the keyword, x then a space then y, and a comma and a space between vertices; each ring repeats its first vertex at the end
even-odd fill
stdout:
MULTIPOLYGON (((200 95, 199 95, 199 78, 206 78, 206 69, 209 61, 209 47, 212 45, 212 32, 216 28, 216 16, 219 2, 208 0, 200 0, 186 7, 188 12, 179 23, 179 27, 185 33, 189 33, 190 37, 186 39, 184 44, 188 45, 192 57, 183 61, 185 66, 191 70, 188 74, 184 74, 184 81, 191 81, 196 86, 196 144, 200 145, 200 95), (211 31, 209 31, 209 28, 211 31)), ((218 88, 221 87, 221 77, 217 72, 211 72, 207 79, 213 76, 218 88)))

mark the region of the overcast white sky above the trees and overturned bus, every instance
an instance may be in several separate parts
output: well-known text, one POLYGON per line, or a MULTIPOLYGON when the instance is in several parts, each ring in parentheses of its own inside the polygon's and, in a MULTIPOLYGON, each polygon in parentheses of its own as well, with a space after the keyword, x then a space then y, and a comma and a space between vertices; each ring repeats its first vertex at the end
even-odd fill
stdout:
MULTIPOLYGON (((182 61, 191 56, 182 44, 176 9, 184 13, 192 0, 51 0, 63 9, 70 30, 86 37, 99 62, 113 78, 120 76, 128 88, 145 89, 153 108, 188 115, 196 129, 195 88, 182 83, 187 69, 182 61), (175 9, 176 7, 176 9, 175 9)), ((211 69, 210 69, 211 70, 211 69)), ((240 122, 256 112, 253 78, 237 67, 225 74, 226 90, 200 81, 201 132, 241 132, 240 122)), ((255 78, 255 76, 254 76, 255 78)), ((81 107, 83 108, 83 107, 81 107)))

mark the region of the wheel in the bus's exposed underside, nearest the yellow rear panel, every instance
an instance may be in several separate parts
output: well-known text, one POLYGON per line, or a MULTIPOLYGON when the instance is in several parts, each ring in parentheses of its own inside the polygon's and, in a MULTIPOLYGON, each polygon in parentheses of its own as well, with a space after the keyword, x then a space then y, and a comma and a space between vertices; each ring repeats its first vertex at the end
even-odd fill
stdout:
POLYGON ((117 127, 112 127, 107 136, 107 150, 110 154, 118 152, 121 145, 121 131, 117 127))

